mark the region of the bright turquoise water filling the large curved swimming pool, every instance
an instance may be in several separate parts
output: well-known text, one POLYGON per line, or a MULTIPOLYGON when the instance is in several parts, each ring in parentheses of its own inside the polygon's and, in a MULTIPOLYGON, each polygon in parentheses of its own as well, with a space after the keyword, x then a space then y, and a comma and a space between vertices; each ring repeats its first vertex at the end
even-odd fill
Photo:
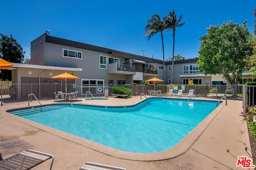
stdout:
POLYGON ((128 152, 174 147, 216 108, 216 102, 150 98, 134 107, 56 105, 11 113, 128 152))

